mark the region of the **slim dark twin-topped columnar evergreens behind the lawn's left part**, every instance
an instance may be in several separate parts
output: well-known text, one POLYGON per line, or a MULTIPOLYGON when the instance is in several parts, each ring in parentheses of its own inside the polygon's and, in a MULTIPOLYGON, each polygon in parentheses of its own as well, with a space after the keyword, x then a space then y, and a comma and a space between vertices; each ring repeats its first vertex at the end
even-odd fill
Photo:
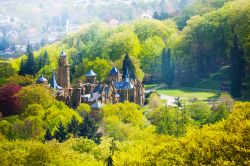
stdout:
POLYGON ((162 80, 170 88, 174 83, 174 65, 171 60, 170 49, 168 49, 168 51, 166 51, 166 49, 163 50, 161 71, 162 71, 162 80))

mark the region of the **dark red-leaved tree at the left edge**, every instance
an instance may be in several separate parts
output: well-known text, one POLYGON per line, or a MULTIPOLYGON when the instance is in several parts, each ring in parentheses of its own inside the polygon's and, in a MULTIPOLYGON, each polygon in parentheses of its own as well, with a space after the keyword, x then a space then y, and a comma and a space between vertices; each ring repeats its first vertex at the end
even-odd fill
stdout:
POLYGON ((10 116, 20 113, 20 102, 16 94, 21 86, 6 84, 0 88, 0 112, 3 116, 10 116))

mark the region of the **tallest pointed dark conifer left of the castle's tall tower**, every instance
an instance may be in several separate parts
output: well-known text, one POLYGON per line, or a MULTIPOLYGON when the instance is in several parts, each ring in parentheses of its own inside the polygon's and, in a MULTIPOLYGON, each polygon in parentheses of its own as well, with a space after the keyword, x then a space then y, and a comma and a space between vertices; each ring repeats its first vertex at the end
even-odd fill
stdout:
POLYGON ((25 65, 25 74, 35 75, 35 60, 31 44, 27 45, 26 55, 28 56, 28 60, 25 65))

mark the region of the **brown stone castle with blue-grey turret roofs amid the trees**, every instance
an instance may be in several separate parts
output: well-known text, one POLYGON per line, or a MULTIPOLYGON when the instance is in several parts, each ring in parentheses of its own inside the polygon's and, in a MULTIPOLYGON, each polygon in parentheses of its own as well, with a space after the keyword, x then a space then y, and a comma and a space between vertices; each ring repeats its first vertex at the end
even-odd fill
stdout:
MULTIPOLYGON (((58 80, 53 72, 50 87, 56 90, 58 100, 72 108, 76 108, 81 103, 87 103, 92 109, 100 109, 103 104, 124 101, 144 105, 144 86, 141 81, 130 79, 128 68, 123 73, 124 79, 116 67, 111 69, 106 82, 99 82, 93 70, 88 71, 85 76, 85 82, 79 82, 79 85, 71 87, 70 65, 66 53, 62 52, 58 61, 58 80)), ((45 82, 46 79, 43 76, 37 80, 37 83, 45 82)))

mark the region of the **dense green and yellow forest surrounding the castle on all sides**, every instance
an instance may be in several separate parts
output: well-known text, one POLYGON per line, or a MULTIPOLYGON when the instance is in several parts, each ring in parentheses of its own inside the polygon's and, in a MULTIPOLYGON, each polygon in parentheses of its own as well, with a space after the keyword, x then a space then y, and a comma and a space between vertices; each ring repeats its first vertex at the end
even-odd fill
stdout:
POLYGON ((152 15, 115 27, 94 22, 2 59, 0 165, 249 165, 250 1, 195 0, 152 15), (146 106, 107 104, 93 116, 89 105, 73 110, 33 84, 57 70, 62 50, 73 86, 90 69, 99 80, 112 66, 122 71, 128 54, 144 83, 224 88, 232 97, 166 106, 152 93, 146 106))

